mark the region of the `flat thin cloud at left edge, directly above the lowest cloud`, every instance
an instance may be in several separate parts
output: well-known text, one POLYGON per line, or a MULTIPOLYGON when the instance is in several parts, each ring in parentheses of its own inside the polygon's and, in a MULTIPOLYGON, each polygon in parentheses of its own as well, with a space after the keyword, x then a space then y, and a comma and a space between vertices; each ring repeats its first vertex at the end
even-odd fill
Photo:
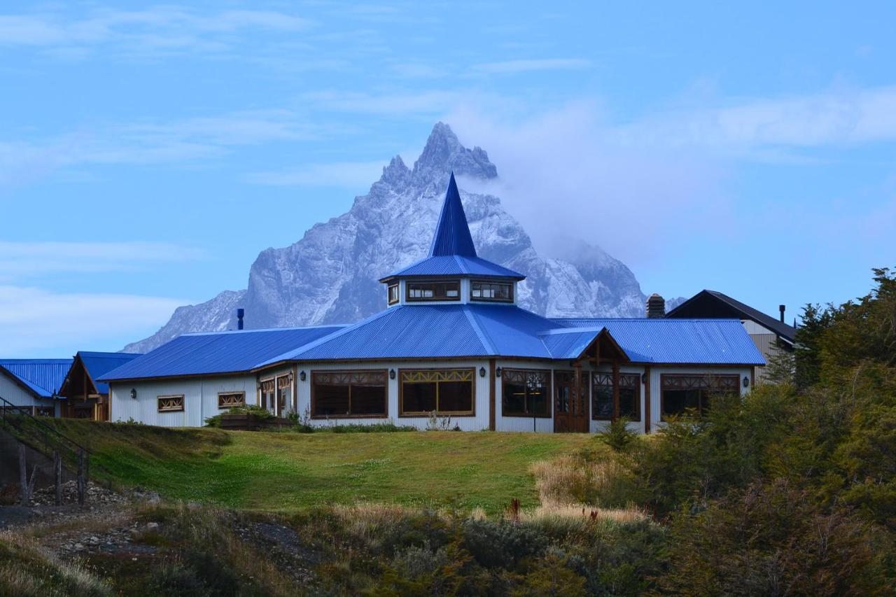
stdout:
POLYGON ((0 281, 47 273, 138 271, 151 264, 194 261, 205 251, 152 242, 10 242, 0 240, 0 281))

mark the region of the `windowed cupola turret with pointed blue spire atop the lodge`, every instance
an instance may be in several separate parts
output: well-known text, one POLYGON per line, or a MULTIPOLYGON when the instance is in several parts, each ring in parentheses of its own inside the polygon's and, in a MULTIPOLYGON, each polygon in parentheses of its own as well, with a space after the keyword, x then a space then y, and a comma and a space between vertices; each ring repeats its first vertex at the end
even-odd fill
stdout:
POLYGON ((474 301, 513 304, 516 282, 524 279, 521 273, 476 254, 452 172, 429 255, 380 281, 388 284, 389 305, 474 301))

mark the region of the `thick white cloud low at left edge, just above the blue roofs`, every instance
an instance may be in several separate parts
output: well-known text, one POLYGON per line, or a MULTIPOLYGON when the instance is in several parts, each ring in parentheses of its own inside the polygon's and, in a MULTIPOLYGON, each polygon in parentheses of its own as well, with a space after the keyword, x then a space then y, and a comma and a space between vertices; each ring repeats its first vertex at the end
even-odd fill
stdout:
POLYGON ((175 308, 188 302, 0 285, 0 354, 24 357, 34 350, 72 344, 111 349, 127 338, 155 330, 175 308))

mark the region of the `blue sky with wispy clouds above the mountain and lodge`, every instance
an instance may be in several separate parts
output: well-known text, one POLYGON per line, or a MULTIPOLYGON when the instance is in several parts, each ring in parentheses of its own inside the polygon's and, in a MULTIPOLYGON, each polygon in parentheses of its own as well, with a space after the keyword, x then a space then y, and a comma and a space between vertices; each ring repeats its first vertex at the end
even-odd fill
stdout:
POLYGON ((624 4, 4 3, 0 354, 245 288, 437 120, 647 293, 792 317, 896 265, 891 3, 624 4))

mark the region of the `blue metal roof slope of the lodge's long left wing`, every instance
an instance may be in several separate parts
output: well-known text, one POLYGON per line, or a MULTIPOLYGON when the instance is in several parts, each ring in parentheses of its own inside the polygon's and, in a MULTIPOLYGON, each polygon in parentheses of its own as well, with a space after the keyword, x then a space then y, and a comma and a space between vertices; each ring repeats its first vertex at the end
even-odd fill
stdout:
POLYGON ((94 381, 237 373, 329 335, 341 325, 185 333, 94 381))

